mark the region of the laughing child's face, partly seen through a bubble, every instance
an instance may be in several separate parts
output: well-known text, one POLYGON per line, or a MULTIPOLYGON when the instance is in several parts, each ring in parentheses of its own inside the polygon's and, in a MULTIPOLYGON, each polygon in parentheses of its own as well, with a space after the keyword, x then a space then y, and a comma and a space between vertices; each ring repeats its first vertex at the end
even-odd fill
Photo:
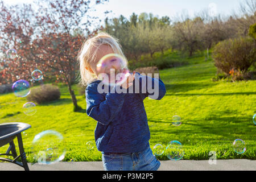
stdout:
POLYGON ((113 49, 108 45, 102 45, 99 47, 94 63, 90 63, 90 68, 93 73, 99 77, 101 73, 106 73, 110 77, 110 72, 114 71, 115 75, 121 72, 121 63, 117 57, 108 57, 99 66, 99 61, 105 55, 114 53, 113 49))

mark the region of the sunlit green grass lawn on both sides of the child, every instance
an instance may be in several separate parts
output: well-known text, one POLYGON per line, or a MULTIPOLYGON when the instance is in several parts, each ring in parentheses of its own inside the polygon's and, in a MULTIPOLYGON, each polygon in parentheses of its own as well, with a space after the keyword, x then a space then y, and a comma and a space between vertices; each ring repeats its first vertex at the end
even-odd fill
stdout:
MULTIPOLYGON (((166 96, 160 101, 144 100, 151 148, 158 143, 166 147, 171 140, 179 140, 185 152, 183 159, 208 160, 209 151, 216 151, 217 159, 256 159, 256 128, 252 120, 256 113, 256 81, 213 82, 216 68, 212 60, 205 61, 204 56, 183 59, 189 64, 160 71, 166 96), (173 115, 181 117, 180 126, 172 125, 173 115), (246 143, 244 154, 233 150, 232 143, 237 138, 246 143)), ((0 123, 24 122, 32 126, 23 135, 28 162, 32 162, 33 138, 50 129, 65 139, 64 161, 101 160, 101 152, 95 146, 93 150, 86 147, 86 142, 94 142, 96 121, 85 113, 85 97, 79 95, 74 85, 78 104, 83 108, 74 113, 67 86, 59 88, 60 100, 37 105, 36 114, 31 116, 22 111, 26 98, 15 97, 13 93, 0 95, 0 123)), ((15 146, 18 147, 16 139, 15 146)), ((7 147, 1 147, 0 153, 7 147)), ((167 159, 165 153, 158 158, 167 159)))

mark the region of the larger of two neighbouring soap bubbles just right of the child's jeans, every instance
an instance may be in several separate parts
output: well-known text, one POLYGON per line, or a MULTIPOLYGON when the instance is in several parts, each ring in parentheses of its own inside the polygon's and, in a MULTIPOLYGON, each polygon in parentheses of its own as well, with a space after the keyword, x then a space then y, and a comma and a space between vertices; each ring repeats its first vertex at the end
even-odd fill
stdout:
POLYGON ((173 140, 166 147, 166 156, 170 160, 180 160, 184 156, 183 146, 179 141, 173 140))

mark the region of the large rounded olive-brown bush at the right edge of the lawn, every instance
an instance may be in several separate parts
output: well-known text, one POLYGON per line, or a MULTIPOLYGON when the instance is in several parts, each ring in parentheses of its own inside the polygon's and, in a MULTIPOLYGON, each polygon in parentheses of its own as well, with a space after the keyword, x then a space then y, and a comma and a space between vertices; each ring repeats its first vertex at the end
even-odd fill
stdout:
POLYGON ((213 48, 212 56, 217 69, 240 77, 255 63, 256 45, 249 37, 224 40, 213 48))

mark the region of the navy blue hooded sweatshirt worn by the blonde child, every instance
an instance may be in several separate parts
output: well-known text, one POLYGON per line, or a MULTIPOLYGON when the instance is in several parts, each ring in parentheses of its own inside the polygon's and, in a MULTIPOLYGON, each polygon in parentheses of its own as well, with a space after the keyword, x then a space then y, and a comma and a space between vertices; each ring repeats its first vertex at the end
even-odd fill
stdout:
POLYGON ((94 131, 97 149, 102 153, 145 150, 149 146, 150 130, 143 100, 153 96, 155 88, 158 94, 152 99, 163 98, 166 88, 162 80, 136 73, 133 88, 129 88, 133 93, 115 92, 116 86, 108 86, 110 92, 101 93, 98 92, 100 83, 100 80, 93 81, 85 90, 86 113, 97 121, 94 131))

